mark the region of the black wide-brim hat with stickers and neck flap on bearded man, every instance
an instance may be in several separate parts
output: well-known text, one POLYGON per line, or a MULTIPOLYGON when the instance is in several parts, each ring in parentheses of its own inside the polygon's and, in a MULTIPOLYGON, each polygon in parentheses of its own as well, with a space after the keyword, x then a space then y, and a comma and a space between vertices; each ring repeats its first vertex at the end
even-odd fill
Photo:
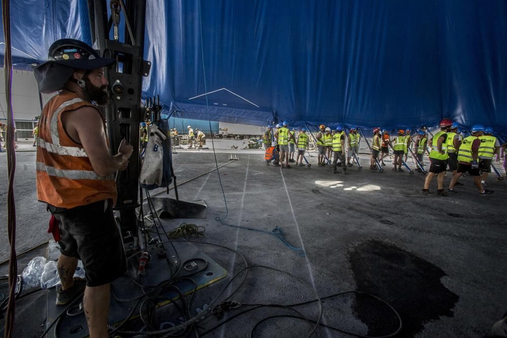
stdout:
POLYGON ((93 70, 108 67, 114 59, 101 57, 82 41, 61 39, 48 52, 48 61, 33 68, 35 80, 42 93, 53 93, 63 87, 75 69, 93 70))

